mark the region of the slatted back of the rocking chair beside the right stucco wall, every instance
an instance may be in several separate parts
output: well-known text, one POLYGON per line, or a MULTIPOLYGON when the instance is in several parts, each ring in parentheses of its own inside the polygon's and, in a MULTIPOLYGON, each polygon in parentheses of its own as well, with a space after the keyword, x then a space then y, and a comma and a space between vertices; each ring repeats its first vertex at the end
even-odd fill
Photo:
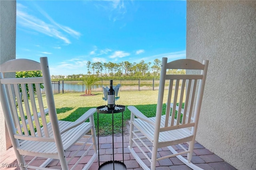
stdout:
MULTIPOLYGON (((183 69, 204 69, 204 64, 191 60, 192 62, 184 63, 185 59, 172 61, 166 63, 166 65, 162 66, 161 74, 166 74, 167 69, 173 68, 183 68, 183 69)), ((188 60, 187 60, 188 61, 188 60)), ((167 101, 166 101, 166 117, 165 117, 165 125, 160 126, 160 131, 182 128, 182 127, 193 127, 194 126, 194 100, 195 98, 200 98, 195 96, 197 90, 197 82, 198 80, 203 79, 203 71, 201 74, 194 75, 172 75, 166 74, 165 79, 167 81, 160 81, 159 88, 164 89, 166 83, 169 83, 169 88, 167 92, 167 101), (180 126, 184 125, 184 126, 180 126), (166 128, 169 127, 169 128, 166 128), (161 129, 162 128, 162 129, 161 129)), ((202 81, 200 81, 202 83, 202 81)), ((158 105, 162 105, 162 103, 158 102, 158 105)), ((158 106, 160 107, 160 106, 158 106)), ((198 107, 198 106, 196 106, 198 107)), ((160 121, 160 117, 162 115, 162 110, 157 110, 156 119, 160 121)), ((160 124, 157 123, 157 124, 160 124)))

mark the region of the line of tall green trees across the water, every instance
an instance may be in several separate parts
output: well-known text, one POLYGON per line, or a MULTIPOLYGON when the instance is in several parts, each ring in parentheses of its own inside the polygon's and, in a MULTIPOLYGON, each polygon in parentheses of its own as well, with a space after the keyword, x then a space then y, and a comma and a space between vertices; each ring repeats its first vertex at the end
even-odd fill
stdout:
MULTIPOLYGON (((161 60, 154 59, 153 65, 151 62, 146 63, 141 60, 139 63, 130 63, 122 61, 120 63, 108 63, 88 61, 86 63, 87 75, 95 75, 96 77, 124 77, 124 76, 159 76, 161 69, 161 60)), ((185 74, 185 70, 172 69, 169 73, 185 74)), ((84 77, 84 74, 68 75, 66 78, 84 77)), ((56 76, 52 75, 52 78, 56 76)), ((64 78, 63 75, 58 75, 58 78, 64 78)))

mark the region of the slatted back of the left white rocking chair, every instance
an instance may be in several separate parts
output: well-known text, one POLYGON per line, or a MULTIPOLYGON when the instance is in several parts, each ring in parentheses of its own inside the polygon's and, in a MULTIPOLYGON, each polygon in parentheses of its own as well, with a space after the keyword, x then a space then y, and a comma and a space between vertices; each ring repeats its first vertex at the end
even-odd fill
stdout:
POLYGON ((1 83, 6 84, 6 91, 8 91, 10 97, 10 104, 13 110, 12 117, 15 121, 18 134, 39 137, 43 137, 42 134, 44 134, 45 137, 49 137, 46 121, 48 111, 44 109, 44 103, 46 104, 46 102, 42 100, 40 87, 43 83, 42 78, 29 77, 16 79, 15 83, 12 78, 2 80, 4 81, 1 81, 1 83), (36 128, 34 128, 34 125, 36 125, 36 128), (44 130, 43 133, 42 127, 44 130))

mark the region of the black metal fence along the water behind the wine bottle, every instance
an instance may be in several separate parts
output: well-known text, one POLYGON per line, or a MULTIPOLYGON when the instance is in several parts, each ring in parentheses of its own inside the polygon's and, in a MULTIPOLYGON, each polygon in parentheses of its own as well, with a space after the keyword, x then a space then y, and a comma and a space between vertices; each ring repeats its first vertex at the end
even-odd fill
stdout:
MULTIPOLYGON (((120 84, 120 91, 150 91, 158 90, 158 79, 114 80, 113 85, 120 84)), ((96 81, 92 85, 93 92, 102 92, 102 87, 109 87, 108 80, 96 81)), ((168 87, 166 86, 166 89, 168 87)), ((83 81, 52 81, 53 93, 84 93, 86 85, 83 81)))

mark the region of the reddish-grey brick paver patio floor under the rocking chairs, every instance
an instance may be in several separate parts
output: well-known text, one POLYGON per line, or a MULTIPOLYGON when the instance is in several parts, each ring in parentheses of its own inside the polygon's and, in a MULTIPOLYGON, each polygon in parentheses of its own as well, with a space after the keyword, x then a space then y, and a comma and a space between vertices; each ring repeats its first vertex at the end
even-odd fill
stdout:
MULTIPOLYGON (((138 162, 134 159, 130 151, 128 150, 127 146, 129 136, 124 136, 124 164, 126 164, 127 170, 142 170, 138 162)), ((114 159, 122 161, 122 137, 114 137, 114 159)), ((176 150, 180 150, 180 146, 175 145, 174 147, 176 150)), ((183 145, 184 147, 187 147, 187 144, 183 145)), ((76 150, 77 146, 72 146, 67 152, 66 156, 71 157, 74 153, 74 150, 76 150)), ((99 147, 100 147, 100 164, 112 160, 112 137, 106 136, 106 137, 100 137, 99 138, 99 147)), ((134 149, 136 152, 138 149, 134 149)), ((139 151, 138 151, 139 152, 139 151)), ((168 148, 160 148, 158 149, 158 156, 165 156, 170 153, 170 150, 168 148)), ((76 170, 82 169, 85 164, 88 162, 89 156, 93 154, 92 152, 88 152, 88 156, 85 156, 81 162, 78 164, 78 166, 75 168, 76 170)), ((139 153, 143 161, 146 163, 146 165, 150 166, 149 161, 146 159, 146 157, 139 153)), ((149 153, 148 153, 149 154, 149 153)), ((78 153, 77 156, 82 155, 81 153, 78 153)), ((150 155, 150 154, 149 154, 150 155)), ((184 155, 186 156, 186 155, 184 155)), ((27 156, 25 158, 26 161, 30 161, 32 157, 27 156)), ((74 160, 72 160, 69 163, 69 166, 72 167, 76 163, 76 161, 79 159, 79 157, 75 157, 74 160)), ((45 158, 37 158, 34 161, 34 165, 38 165, 46 160, 45 158)), ((5 167, 7 164, 10 164, 10 166, 15 166, 17 164, 16 157, 14 155, 13 148, 8 149, 7 151, 1 151, 0 152, 0 169, 1 170, 15 170, 19 168, 15 167, 5 167)), ((192 163, 196 164, 200 168, 204 170, 236 170, 233 166, 225 162, 222 158, 217 156, 216 154, 213 154, 208 149, 204 148, 199 143, 195 144, 195 149, 193 153, 192 163)), ((61 169, 59 160, 52 160, 50 164, 48 164, 49 168, 56 168, 61 169)), ((98 170, 98 158, 94 161, 92 166, 90 167, 90 170, 98 170)), ((181 162, 178 158, 172 157, 172 158, 166 158, 164 160, 158 161, 156 163, 156 170, 191 170, 188 166, 186 166, 183 162, 181 162)))

